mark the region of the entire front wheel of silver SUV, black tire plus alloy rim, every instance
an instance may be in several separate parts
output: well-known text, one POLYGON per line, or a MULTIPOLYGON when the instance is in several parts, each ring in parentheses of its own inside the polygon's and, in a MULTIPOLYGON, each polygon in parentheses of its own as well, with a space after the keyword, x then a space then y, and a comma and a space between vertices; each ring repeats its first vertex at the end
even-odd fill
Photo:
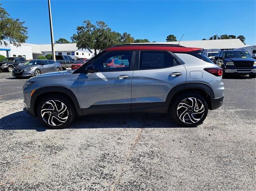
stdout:
POLYGON ((76 110, 72 102, 66 97, 62 95, 50 95, 42 99, 38 104, 37 114, 41 122, 47 127, 62 129, 74 120, 76 110))

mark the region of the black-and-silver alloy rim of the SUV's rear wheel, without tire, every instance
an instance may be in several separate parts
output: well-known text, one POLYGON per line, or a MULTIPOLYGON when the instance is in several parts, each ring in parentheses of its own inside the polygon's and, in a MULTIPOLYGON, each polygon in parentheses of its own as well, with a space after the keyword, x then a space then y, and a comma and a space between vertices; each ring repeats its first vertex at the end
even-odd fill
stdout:
POLYGON ((177 107, 178 118, 186 124, 198 122, 203 118, 204 113, 204 104, 194 97, 185 98, 177 107))

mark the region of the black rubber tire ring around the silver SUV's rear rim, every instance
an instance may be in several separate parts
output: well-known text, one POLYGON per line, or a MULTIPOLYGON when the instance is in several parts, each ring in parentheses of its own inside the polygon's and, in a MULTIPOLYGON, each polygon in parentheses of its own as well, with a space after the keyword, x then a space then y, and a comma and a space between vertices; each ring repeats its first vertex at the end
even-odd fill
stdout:
POLYGON ((171 113, 172 118, 174 119, 174 121, 177 122, 178 124, 180 124, 180 125, 182 125, 182 126, 186 126, 186 127, 194 127, 194 126, 198 126, 198 125, 202 124, 203 121, 205 120, 205 118, 206 118, 206 116, 207 116, 207 114, 208 114, 208 104, 207 104, 206 100, 205 100, 202 96, 200 96, 200 95, 198 95, 198 94, 195 94, 195 93, 187 93, 187 94, 184 94, 184 95, 181 95, 181 96, 177 96, 177 97, 175 98, 175 100, 174 100, 174 102, 173 102, 173 104, 172 104, 172 106, 171 106, 171 111, 170 111, 170 113, 171 113), (182 121, 179 119, 178 114, 177 114, 177 107, 178 107, 178 104, 179 104, 182 100, 184 100, 184 99, 186 99, 186 98, 189 98, 189 97, 197 98, 197 99, 199 99, 199 100, 202 102, 202 104, 204 104, 204 111, 205 111, 205 112, 204 112, 204 115, 202 116, 202 118, 201 118, 198 122, 196 122, 196 123, 194 123, 194 124, 187 124, 187 123, 182 122, 182 121))

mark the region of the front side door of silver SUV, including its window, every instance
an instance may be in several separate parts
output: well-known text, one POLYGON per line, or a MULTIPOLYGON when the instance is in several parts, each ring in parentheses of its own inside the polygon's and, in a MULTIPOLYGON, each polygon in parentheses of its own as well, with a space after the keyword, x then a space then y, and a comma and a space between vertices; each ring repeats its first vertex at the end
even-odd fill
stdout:
POLYGON ((80 106, 87 113, 130 112, 135 51, 108 51, 92 64, 95 73, 80 73, 80 106), (128 65, 119 61, 127 55, 128 65))

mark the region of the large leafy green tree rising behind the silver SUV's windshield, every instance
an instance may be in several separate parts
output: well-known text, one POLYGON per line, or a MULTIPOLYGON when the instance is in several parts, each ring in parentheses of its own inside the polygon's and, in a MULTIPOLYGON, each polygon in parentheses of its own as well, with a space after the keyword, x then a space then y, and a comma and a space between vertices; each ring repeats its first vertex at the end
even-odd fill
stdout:
POLYGON ((71 37, 72 42, 77 43, 78 49, 94 48, 94 55, 97 54, 97 49, 103 50, 117 45, 122 39, 120 33, 112 31, 103 21, 97 21, 94 25, 89 20, 85 20, 76 30, 71 37))

